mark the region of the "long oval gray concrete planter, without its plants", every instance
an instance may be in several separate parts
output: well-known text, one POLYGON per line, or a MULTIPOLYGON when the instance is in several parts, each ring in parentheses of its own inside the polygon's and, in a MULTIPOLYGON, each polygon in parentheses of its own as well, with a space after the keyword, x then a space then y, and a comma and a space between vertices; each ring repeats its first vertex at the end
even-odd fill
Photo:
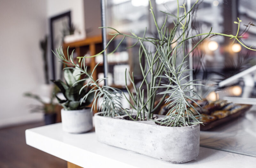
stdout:
POLYGON ((199 124, 166 127, 154 121, 125 120, 125 116, 113 118, 96 113, 94 117, 95 132, 102 143, 171 163, 189 162, 199 155, 199 124))

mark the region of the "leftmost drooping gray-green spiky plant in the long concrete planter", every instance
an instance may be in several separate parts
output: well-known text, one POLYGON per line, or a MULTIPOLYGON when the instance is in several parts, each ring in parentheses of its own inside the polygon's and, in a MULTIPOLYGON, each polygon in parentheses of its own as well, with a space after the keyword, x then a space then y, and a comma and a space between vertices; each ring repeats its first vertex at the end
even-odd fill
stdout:
MULTIPOLYGON (((124 114, 124 109, 122 108, 120 99, 122 97, 121 91, 119 89, 110 87, 110 86, 99 86, 99 82, 101 82, 103 79, 94 80, 92 77, 92 74, 94 73, 96 67, 98 64, 94 67, 92 70, 92 73, 87 72, 87 66, 85 66, 85 57, 82 60, 81 66, 74 63, 73 60, 73 52, 71 55, 65 56, 62 48, 56 49, 57 54, 55 54, 60 60, 64 61, 64 64, 67 65, 73 65, 73 67, 67 67, 64 68, 64 72, 66 70, 74 70, 78 71, 80 75, 85 75, 86 77, 83 79, 76 80, 75 83, 72 84, 72 86, 75 86, 76 84, 83 83, 84 81, 88 81, 87 84, 85 84, 82 87, 77 88, 77 93, 79 93, 79 97, 81 98, 81 105, 85 100, 91 100, 94 98, 92 103, 92 109, 97 109, 97 111, 102 111, 104 116, 120 116, 124 114), (85 88, 88 89, 87 92, 84 91, 85 88)), ((68 53, 68 52, 67 52, 68 53)), ((66 78, 65 78, 66 79, 66 78)), ((73 79, 72 79, 73 80, 73 79)), ((64 83, 60 83, 59 85, 62 87, 64 83)), ((63 89, 62 89, 63 90, 63 89)), ((78 100, 78 101, 79 101, 78 100)))

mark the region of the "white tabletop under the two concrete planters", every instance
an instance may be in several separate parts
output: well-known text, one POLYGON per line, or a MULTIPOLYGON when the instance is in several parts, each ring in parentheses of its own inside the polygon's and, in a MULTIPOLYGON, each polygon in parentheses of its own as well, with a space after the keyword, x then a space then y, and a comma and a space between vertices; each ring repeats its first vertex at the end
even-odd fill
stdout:
POLYGON ((170 164, 97 141, 94 131, 70 134, 61 123, 26 130, 28 145, 84 168, 255 168, 256 157, 200 147, 199 157, 184 164, 170 164))

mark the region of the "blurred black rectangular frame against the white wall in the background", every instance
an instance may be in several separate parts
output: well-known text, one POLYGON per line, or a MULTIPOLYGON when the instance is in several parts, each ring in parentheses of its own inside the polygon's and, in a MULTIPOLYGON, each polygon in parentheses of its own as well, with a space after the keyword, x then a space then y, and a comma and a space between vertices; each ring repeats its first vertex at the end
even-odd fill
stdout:
MULTIPOLYGON (((51 50, 55 52, 56 48, 59 48, 62 45, 62 36, 56 37, 56 32, 59 32, 64 27, 64 22, 68 23, 68 26, 71 26, 71 11, 61 13, 60 15, 53 16, 50 18, 50 36, 51 36, 51 50), (61 23, 63 21, 63 23, 61 23), (62 27, 61 27, 62 26, 62 27)), ((57 75, 60 75, 58 77, 61 77, 61 74, 56 75, 56 69, 58 69, 58 61, 54 55, 54 53, 51 51, 51 61, 52 61, 52 79, 56 80, 57 75), (57 68, 56 68, 57 67, 57 68)), ((61 73, 62 67, 60 67, 60 73, 61 73)))

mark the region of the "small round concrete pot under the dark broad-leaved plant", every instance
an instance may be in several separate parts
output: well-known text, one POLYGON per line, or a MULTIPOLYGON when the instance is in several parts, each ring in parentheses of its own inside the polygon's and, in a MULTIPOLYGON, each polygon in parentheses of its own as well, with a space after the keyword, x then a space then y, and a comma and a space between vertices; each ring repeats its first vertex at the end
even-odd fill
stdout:
POLYGON ((91 109, 61 109, 62 129, 69 133, 83 133, 92 129, 91 109))

